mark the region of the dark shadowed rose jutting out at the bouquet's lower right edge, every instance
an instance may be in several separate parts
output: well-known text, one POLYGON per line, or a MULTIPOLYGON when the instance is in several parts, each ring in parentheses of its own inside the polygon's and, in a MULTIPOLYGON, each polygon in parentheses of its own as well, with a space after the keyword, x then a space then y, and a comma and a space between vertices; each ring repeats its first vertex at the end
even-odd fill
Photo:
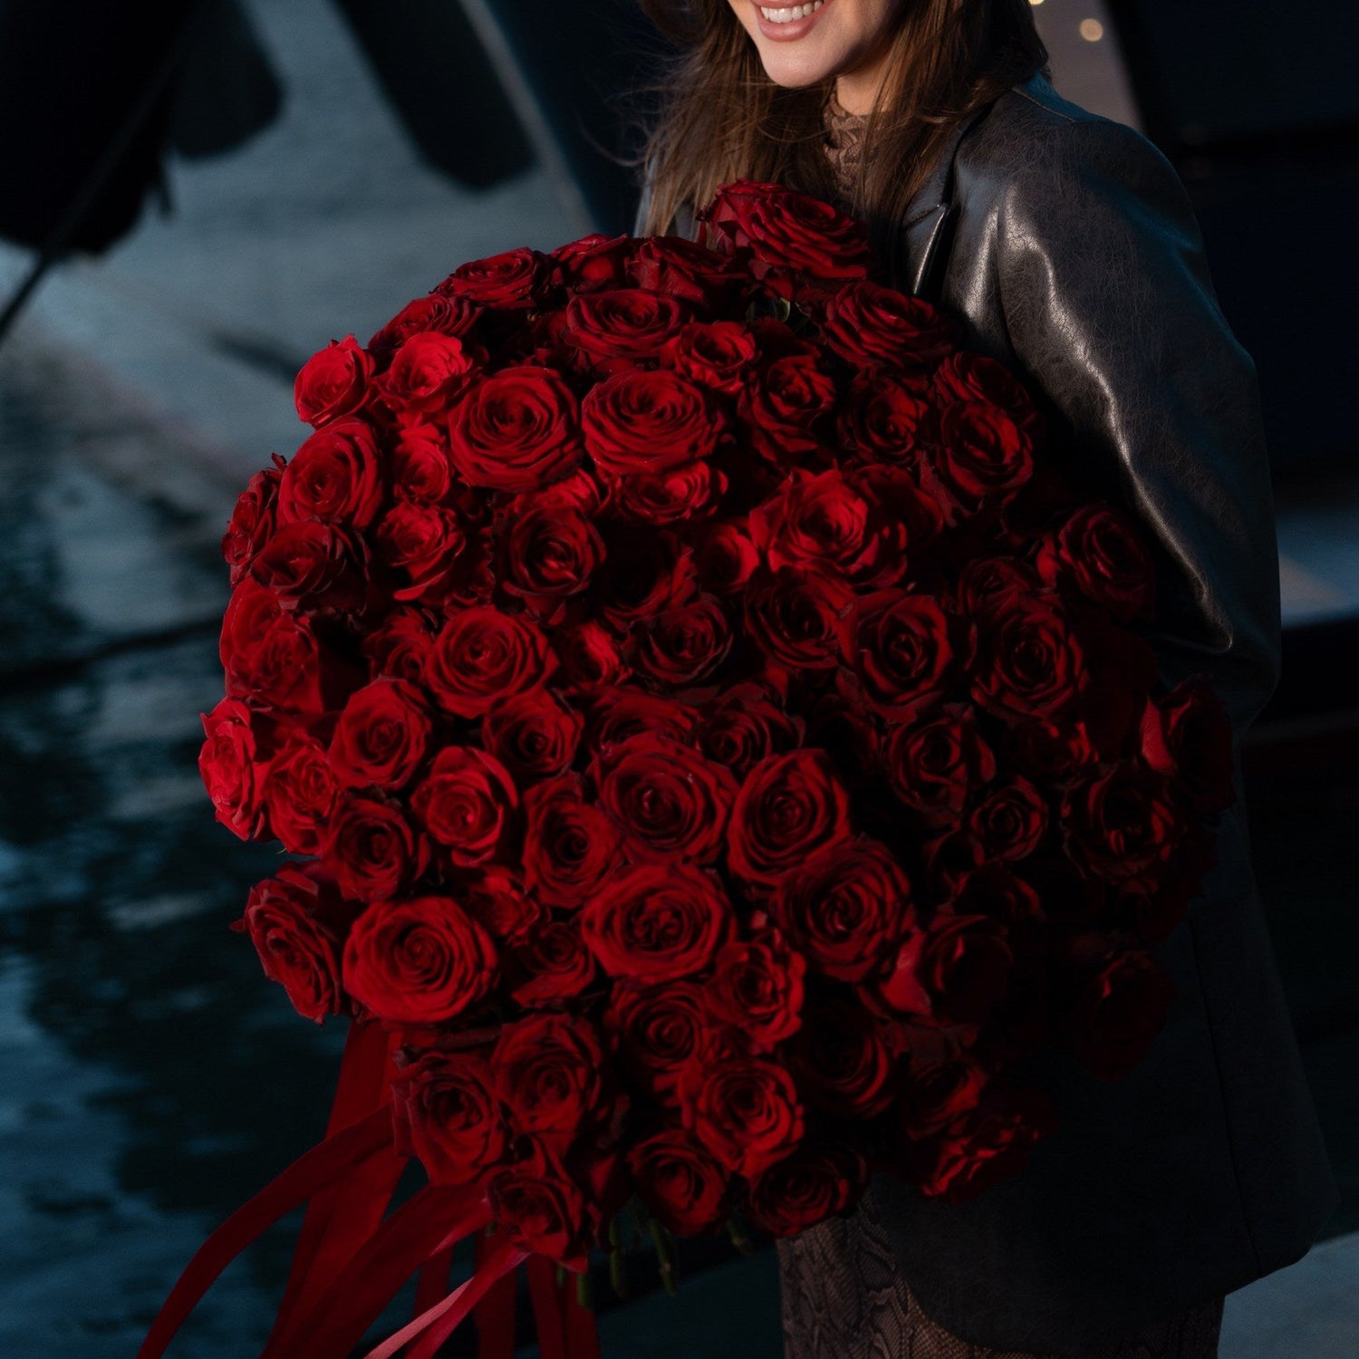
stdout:
POLYGON ((1176 987, 1146 949, 1120 949, 1099 935, 1072 945, 1075 977, 1061 1033, 1076 1060, 1099 1080, 1139 1065, 1165 1027, 1176 987))

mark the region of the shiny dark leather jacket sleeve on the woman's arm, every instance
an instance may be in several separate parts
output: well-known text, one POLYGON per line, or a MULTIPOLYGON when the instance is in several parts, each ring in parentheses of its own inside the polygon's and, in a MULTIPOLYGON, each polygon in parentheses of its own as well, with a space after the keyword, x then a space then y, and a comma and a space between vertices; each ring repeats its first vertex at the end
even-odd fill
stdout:
POLYGON ((1070 424, 1076 458, 1102 459, 1094 470, 1155 535, 1146 635, 1162 678, 1207 671, 1239 737, 1280 660, 1254 363, 1218 304, 1184 185, 1151 141, 1067 120, 1019 154, 996 219, 1014 355, 1070 424))

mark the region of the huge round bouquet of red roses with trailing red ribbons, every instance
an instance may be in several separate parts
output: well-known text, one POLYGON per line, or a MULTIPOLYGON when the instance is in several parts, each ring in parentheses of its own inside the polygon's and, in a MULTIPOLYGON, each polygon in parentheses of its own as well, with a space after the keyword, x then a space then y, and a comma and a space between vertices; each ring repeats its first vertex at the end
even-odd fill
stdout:
POLYGON ((1053 1127, 1017 1059, 1113 1078, 1165 1018, 1231 741, 1157 689, 1137 529, 860 223, 749 182, 701 222, 332 344, 231 520, 201 769, 302 856, 242 928, 368 1036, 269 1354, 347 1354, 387 1292, 340 1299, 487 1223, 394 1344, 629 1201, 788 1234, 870 1171, 974 1195, 1053 1127), (379 1226, 391 1137, 429 1189, 379 1226))

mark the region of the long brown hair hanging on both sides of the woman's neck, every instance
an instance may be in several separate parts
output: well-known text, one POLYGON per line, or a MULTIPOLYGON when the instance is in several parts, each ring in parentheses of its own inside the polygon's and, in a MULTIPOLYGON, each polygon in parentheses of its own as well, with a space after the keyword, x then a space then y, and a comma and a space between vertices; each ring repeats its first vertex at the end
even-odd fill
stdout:
MULTIPOLYGON (((958 121, 1036 71, 1048 49, 1030 0, 900 0, 883 96, 864 128, 855 212, 881 253, 958 121)), ((727 0, 640 0, 678 49, 647 139, 651 197, 643 230, 673 230, 681 208, 705 204, 720 183, 776 181, 833 193, 822 154, 822 106, 832 82, 776 86, 727 0)))

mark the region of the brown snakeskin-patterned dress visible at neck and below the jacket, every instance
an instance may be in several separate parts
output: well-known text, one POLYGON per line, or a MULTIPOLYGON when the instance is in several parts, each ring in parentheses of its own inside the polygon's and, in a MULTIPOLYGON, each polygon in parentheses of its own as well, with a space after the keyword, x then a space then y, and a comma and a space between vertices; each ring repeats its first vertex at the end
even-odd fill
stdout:
MULTIPOLYGON (((851 198, 866 122, 833 95, 825 105, 826 156, 841 207, 851 198)), ((871 1190, 851 1216, 780 1241, 777 1250, 787 1359, 1057 1359, 973 1345, 932 1322, 897 1269, 871 1190)), ((1079 1359, 1216 1359, 1222 1311, 1218 1298, 1079 1359)))

